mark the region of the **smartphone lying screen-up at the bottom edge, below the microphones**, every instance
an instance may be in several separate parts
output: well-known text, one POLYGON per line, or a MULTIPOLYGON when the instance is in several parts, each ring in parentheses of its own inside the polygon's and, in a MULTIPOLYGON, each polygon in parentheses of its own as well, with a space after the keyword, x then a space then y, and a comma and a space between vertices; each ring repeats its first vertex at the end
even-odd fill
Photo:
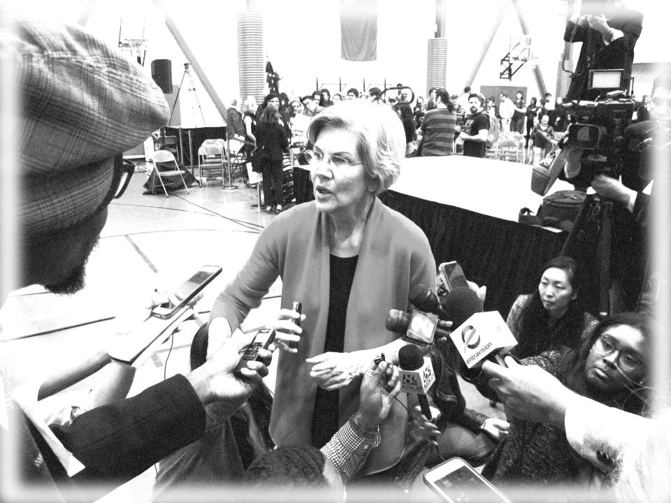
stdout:
POLYGON ((512 503, 461 458, 450 458, 428 470, 424 483, 447 503, 512 503))

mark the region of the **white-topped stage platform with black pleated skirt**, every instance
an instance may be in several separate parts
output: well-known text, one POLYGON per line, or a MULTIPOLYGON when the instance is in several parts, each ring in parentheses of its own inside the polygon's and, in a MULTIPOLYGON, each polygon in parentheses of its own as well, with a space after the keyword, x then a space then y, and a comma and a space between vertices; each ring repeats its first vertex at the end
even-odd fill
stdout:
MULTIPOLYGON (((537 210, 531 166, 493 159, 440 156, 405 159, 398 177, 380 199, 424 231, 436 264, 459 261, 468 279, 487 286, 486 310, 507 316, 520 293, 537 287, 537 277, 566 238, 557 229, 517 223, 522 207, 537 210)), ((296 202, 310 201, 310 172, 294 168, 296 202)), ((555 182, 552 191, 572 189, 555 182)))

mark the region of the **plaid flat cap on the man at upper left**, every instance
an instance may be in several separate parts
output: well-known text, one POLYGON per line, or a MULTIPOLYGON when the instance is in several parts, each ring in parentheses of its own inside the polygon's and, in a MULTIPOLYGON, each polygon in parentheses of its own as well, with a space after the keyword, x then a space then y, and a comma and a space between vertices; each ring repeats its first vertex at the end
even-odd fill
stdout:
POLYGON ((23 105, 18 218, 31 238, 92 214, 110 191, 113 157, 164 126, 168 104, 142 68, 80 27, 13 28, 23 105))

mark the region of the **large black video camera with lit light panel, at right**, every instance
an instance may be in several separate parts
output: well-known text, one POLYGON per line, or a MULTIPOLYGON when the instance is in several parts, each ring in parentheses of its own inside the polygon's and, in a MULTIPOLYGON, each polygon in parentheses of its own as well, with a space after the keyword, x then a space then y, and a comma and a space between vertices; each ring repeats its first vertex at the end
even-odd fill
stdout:
MULTIPOLYGON (((625 129, 631 123, 635 101, 617 90, 606 94, 603 101, 572 101, 560 107, 570 124, 558 148, 583 151, 579 174, 570 182, 577 189, 586 189, 596 175, 618 178, 629 143, 625 129)), ((540 196, 547 194, 563 170, 564 158, 557 153, 534 167, 531 189, 540 196)))

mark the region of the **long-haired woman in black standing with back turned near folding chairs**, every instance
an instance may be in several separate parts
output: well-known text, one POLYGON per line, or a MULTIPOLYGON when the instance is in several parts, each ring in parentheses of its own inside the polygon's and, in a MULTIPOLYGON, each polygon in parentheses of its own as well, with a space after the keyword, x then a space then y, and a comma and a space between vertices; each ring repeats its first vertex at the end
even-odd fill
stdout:
POLYGON ((289 139, 280 113, 279 97, 268 100, 264 115, 257 124, 257 148, 261 149, 261 172, 264 175, 264 202, 266 211, 282 211, 282 159, 289 148, 289 139))

